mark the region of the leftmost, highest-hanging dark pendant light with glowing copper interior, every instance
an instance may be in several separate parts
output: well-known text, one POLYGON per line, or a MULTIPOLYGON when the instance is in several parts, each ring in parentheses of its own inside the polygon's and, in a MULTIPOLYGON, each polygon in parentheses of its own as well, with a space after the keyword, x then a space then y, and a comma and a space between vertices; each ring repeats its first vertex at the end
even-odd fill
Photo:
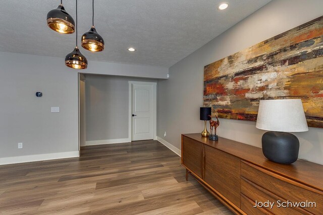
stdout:
POLYGON ((62 1, 57 9, 53 9, 47 14, 47 25, 50 29, 63 33, 74 33, 75 23, 73 18, 65 11, 62 1))

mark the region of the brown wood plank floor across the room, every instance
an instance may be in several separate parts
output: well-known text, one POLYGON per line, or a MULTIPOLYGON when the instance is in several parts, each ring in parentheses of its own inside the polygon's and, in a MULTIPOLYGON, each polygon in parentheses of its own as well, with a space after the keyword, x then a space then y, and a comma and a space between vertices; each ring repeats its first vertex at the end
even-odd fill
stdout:
POLYGON ((232 214, 155 140, 0 166, 1 214, 232 214))

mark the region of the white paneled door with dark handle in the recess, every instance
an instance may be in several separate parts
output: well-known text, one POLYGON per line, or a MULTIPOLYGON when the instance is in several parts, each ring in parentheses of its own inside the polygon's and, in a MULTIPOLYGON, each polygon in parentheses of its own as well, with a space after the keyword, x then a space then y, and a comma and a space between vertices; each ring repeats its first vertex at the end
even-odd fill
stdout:
POLYGON ((155 86, 156 83, 131 84, 131 140, 154 138, 155 86))

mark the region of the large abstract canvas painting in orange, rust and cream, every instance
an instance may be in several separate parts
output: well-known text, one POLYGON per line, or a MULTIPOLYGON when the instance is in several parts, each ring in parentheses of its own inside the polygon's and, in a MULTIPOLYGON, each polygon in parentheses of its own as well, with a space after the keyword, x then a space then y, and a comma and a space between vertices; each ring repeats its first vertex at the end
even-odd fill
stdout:
POLYGON ((323 127, 323 16, 204 67, 213 117, 255 121, 259 100, 295 98, 323 127))

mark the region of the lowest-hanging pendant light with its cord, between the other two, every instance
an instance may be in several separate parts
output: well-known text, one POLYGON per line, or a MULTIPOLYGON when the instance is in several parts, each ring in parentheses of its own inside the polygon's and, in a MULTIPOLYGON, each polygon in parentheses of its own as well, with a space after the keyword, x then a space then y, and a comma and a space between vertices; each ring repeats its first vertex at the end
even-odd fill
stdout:
POLYGON ((87 68, 87 59, 77 48, 77 0, 76 0, 76 47, 66 55, 65 65, 71 68, 85 69, 87 68))

